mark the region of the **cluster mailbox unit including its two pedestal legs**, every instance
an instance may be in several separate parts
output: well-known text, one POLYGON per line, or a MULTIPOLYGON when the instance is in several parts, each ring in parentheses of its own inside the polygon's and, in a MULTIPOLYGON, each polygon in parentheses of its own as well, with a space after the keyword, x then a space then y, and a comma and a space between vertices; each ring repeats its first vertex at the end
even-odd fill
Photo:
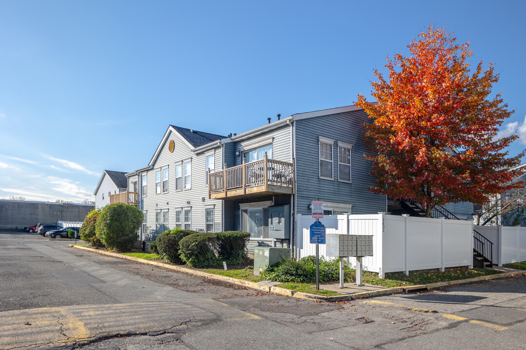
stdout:
POLYGON ((343 258, 346 257, 356 257, 356 285, 363 285, 362 257, 372 256, 372 237, 369 235, 327 235, 327 256, 340 258, 341 288, 343 288, 343 258))

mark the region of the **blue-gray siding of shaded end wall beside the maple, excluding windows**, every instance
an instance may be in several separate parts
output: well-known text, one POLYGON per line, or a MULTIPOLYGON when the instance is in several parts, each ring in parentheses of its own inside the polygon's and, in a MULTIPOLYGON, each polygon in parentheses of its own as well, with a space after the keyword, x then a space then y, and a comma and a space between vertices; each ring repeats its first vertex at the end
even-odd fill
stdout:
POLYGON ((369 190, 371 162, 366 148, 363 123, 369 122, 363 111, 338 113, 297 120, 296 123, 296 200, 297 214, 310 215, 312 200, 352 204, 351 214, 376 214, 386 211, 386 196, 369 190), (319 177, 318 136, 336 140, 332 145, 333 180, 319 177), (351 183, 338 181, 338 141, 352 144, 351 183))

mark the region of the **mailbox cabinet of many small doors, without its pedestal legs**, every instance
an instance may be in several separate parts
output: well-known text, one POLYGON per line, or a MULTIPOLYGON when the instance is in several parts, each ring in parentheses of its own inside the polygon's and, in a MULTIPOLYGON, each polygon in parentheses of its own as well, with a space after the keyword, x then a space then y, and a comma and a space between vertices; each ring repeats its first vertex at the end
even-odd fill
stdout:
POLYGON ((328 257, 370 257, 372 256, 372 236, 365 235, 327 235, 326 254, 328 257))

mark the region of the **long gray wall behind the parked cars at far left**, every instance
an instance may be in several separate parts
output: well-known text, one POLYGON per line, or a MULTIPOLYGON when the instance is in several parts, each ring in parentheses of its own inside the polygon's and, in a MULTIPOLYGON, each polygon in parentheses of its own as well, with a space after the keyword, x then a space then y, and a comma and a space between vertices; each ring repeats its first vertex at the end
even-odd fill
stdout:
POLYGON ((58 221, 84 221, 93 204, 0 199, 0 228, 24 228, 58 221))

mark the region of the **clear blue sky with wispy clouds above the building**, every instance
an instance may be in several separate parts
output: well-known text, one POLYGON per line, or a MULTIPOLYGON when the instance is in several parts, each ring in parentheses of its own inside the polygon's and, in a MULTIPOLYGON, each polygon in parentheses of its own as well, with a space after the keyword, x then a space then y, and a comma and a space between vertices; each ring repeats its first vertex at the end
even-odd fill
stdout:
POLYGON ((227 135, 370 96, 430 24, 496 65, 526 144, 526 2, 0 1, 0 198, 91 199, 169 124, 227 135), (429 4, 428 4, 429 3, 429 4))

